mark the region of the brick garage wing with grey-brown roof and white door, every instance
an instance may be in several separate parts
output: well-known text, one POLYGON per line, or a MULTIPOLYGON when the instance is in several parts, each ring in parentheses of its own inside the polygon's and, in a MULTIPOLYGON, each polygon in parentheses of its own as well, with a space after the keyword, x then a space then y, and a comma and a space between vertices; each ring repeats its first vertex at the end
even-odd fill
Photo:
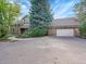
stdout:
POLYGON ((75 17, 56 18, 51 23, 48 35, 49 36, 77 36, 79 22, 75 17))

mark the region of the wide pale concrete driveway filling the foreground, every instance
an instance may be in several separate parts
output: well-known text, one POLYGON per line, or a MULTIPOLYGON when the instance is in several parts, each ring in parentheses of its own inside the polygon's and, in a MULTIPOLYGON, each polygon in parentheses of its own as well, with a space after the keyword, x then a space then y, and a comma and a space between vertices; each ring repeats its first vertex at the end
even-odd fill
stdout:
POLYGON ((39 37, 0 42, 0 64, 86 64, 86 40, 39 37))

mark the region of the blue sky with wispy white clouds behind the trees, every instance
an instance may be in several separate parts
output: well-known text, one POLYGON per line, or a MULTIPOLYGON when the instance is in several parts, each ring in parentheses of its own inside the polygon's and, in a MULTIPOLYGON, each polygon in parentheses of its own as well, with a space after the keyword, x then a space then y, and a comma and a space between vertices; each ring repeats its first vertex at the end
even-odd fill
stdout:
MULTIPOLYGON (((29 0, 19 0, 21 4, 21 17, 27 15, 29 12, 29 0)), ((64 18, 64 17, 75 17, 73 7, 77 3, 78 0, 50 0, 50 5, 52 9, 54 18, 64 18)))

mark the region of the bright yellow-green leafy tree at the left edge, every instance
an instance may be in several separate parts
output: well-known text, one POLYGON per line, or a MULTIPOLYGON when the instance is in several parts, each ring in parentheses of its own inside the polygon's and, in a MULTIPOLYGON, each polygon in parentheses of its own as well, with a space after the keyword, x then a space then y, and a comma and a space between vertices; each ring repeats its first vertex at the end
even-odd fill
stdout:
POLYGON ((10 0, 0 0, 0 37, 10 34, 13 22, 20 13, 20 5, 10 0))

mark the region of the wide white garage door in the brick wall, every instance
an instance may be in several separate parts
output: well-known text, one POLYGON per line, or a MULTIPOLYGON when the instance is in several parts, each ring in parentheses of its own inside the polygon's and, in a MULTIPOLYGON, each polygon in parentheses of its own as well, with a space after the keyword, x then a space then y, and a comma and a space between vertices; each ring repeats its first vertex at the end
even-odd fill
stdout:
POLYGON ((73 37, 74 30, 73 29, 57 29, 57 36, 73 37))

